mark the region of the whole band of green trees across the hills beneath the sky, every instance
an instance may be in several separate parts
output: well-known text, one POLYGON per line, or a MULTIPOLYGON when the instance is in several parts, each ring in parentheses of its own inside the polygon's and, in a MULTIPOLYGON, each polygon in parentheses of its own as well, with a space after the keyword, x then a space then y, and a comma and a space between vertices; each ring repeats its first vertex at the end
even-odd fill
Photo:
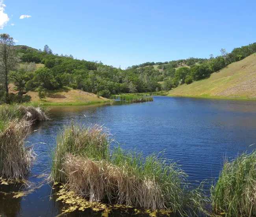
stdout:
POLYGON ((0 34, 0 101, 29 101, 28 91, 37 91, 43 98, 46 90, 63 86, 107 98, 120 93, 170 90, 207 78, 211 73, 254 52, 256 43, 234 48, 230 53, 221 49, 220 56, 210 55, 209 59, 190 57, 157 64, 148 62, 122 70, 98 61, 53 54, 48 45, 43 50, 15 46, 12 37, 0 34), (37 68, 37 63, 44 64, 44 67, 37 68), (9 83, 14 83, 17 94, 9 93, 9 83))

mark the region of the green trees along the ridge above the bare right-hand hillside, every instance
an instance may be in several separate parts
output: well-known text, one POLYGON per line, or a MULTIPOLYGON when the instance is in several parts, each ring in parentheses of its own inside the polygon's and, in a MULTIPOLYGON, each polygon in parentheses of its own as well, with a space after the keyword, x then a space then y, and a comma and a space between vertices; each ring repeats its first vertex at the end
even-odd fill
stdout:
POLYGON ((209 59, 189 57, 188 59, 169 62, 147 62, 128 67, 127 70, 136 74, 147 74, 150 79, 157 82, 163 81, 161 89, 167 91, 180 84, 190 84, 193 81, 208 78, 211 73, 217 72, 228 64, 239 61, 255 52, 256 43, 253 43, 241 48, 234 48, 230 53, 221 49, 221 56, 213 57, 211 54, 209 59))

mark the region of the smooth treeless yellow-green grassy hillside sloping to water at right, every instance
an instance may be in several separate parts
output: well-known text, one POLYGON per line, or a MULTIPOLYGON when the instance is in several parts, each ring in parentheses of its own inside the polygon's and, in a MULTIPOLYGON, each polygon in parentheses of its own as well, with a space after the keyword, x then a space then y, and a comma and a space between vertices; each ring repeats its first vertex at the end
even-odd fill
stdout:
POLYGON ((210 78, 180 85, 169 96, 256 99, 256 54, 234 62, 210 78))

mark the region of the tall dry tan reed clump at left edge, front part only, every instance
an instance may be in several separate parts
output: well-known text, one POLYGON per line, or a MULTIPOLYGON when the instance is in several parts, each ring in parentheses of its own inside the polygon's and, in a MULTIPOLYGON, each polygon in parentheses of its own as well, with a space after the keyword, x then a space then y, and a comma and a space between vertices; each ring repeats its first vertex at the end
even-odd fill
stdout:
POLYGON ((0 177, 24 179, 33 160, 32 148, 24 147, 31 122, 15 119, 0 124, 0 177))

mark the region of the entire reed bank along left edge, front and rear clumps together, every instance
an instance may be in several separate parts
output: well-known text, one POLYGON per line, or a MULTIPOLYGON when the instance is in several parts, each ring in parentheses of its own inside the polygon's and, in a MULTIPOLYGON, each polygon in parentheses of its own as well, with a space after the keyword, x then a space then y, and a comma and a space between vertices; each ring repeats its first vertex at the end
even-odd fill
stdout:
POLYGON ((32 147, 25 147, 30 126, 46 121, 39 107, 19 104, 0 106, 0 177, 24 179, 34 158, 32 147))

